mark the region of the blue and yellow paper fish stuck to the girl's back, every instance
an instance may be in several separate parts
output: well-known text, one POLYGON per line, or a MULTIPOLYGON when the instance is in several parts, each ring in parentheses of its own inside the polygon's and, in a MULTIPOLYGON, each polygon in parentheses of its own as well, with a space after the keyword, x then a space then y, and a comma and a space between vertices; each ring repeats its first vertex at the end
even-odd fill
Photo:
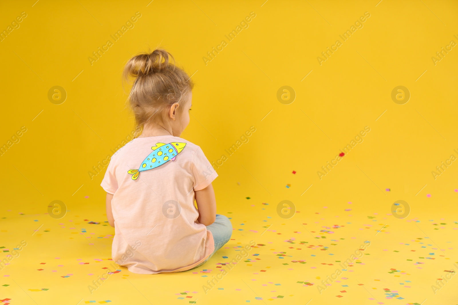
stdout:
POLYGON ((132 175, 132 180, 136 180, 136 178, 140 176, 141 171, 152 170, 169 161, 174 161, 176 155, 178 155, 185 146, 186 143, 181 142, 172 142, 169 144, 156 143, 156 146, 151 147, 153 152, 143 160, 138 170, 129 170, 127 172, 132 175))

